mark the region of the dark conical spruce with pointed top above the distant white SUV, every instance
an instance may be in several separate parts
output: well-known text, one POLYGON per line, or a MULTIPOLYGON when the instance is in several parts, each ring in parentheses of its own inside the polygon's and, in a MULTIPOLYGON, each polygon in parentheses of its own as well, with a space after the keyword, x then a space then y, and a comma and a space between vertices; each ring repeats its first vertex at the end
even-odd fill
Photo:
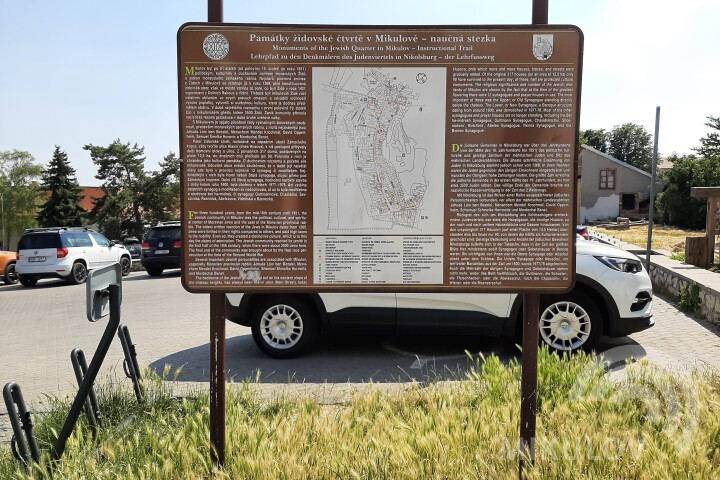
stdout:
POLYGON ((50 197, 38 213, 38 223, 43 227, 81 226, 85 220, 85 211, 80 206, 82 189, 67 154, 57 145, 42 180, 42 187, 50 192, 50 197))

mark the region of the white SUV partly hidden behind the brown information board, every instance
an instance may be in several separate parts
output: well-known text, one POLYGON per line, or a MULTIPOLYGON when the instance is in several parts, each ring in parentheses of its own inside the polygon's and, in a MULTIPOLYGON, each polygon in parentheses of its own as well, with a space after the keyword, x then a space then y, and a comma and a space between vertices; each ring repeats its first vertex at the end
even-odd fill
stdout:
MULTIPOLYGON (((576 281, 564 295, 543 295, 540 337, 559 351, 590 350, 602 335, 620 337, 654 325, 652 284, 633 254, 577 240, 576 281)), ((22 277, 21 277, 22 280, 22 277)), ((385 334, 521 332, 522 295, 467 293, 227 294, 230 321, 252 329, 276 358, 300 355, 321 332, 385 334)))

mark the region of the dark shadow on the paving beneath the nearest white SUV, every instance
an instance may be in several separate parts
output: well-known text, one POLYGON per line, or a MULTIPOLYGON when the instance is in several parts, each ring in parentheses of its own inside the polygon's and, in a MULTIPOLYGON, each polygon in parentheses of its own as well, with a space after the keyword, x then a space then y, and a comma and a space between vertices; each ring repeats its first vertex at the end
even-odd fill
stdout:
MULTIPOLYGON (((606 339, 598 353, 608 356, 611 369, 640 359, 645 350, 628 337, 606 339)), ((468 337, 405 337, 380 339, 326 338, 304 356, 277 360, 261 353, 252 336, 239 335, 226 342, 227 380, 251 379, 258 383, 387 383, 464 379, 482 364, 481 356, 495 355, 503 363, 521 361, 518 347, 509 340, 468 337)), ((177 380, 210 381, 209 344, 168 355, 150 364, 162 374, 182 367, 177 380)), ((172 376, 172 375, 171 375, 172 376)))

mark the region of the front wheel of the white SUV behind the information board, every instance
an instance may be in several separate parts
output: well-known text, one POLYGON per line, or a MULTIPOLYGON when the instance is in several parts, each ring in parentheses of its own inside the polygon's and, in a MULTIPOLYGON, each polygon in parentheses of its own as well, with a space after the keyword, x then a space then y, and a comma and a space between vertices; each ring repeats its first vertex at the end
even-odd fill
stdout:
POLYGON ((595 302, 581 292, 543 298, 540 340, 559 352, 590 351, 602 335, 603 319, 595 302))

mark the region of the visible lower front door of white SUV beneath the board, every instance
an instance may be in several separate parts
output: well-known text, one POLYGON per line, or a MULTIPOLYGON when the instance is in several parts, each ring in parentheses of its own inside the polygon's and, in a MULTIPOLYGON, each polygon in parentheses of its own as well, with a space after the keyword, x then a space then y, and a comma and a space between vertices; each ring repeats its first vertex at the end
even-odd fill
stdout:
POLYGON ((498 335, 512 298, 508 293, 398 293, 398 332, 498 335))

